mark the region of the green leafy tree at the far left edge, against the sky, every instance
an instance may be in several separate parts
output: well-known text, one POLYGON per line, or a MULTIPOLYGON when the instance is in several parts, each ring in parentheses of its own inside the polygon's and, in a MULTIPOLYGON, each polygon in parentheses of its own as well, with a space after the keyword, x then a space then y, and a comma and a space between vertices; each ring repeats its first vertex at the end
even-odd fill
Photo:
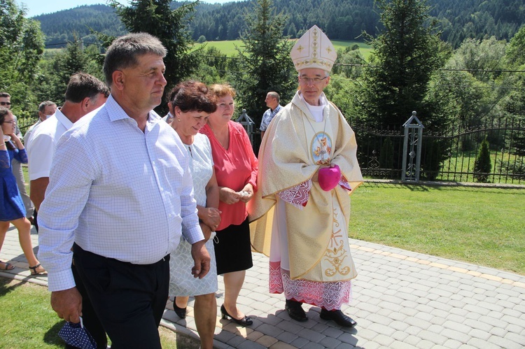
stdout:
POLYGON ((29 86, 43 54, 40 24, 25 14, 14 0, 0 0, 0 90, 11 94, 19 117, 29 115, 36 103, 29 86))

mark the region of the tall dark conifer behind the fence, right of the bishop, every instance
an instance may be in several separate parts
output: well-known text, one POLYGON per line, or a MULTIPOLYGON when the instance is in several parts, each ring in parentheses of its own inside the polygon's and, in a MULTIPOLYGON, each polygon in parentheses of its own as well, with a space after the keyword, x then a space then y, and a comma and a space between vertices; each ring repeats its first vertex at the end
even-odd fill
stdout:
MULTIPOLYGON (((384 29, 368 37, 374 55, 364 74, 361 106, 371 124, 400 127, 423 103, 433 71, 443 63, 426 0, 377 0, 384 29)), ((422 120, 423 121, 423 120, 422 120)))

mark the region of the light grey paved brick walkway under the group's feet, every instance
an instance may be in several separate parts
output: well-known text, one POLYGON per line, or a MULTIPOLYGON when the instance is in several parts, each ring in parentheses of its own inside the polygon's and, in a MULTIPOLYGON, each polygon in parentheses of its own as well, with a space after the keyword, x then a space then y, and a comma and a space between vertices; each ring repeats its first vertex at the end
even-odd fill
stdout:
MULTIPOLYGON (((31 237, 38 245, 38 236, 31 237)), ((525 276, 353 239, 350 245, 359 275, 353 301, 343 311, 358 322, 356 328, 321 320, 314 306, 304 306, 307 322, 290 320, 283 295, 267 291, 267 257, 254 253, 239 297, 253 325, 238 327, 217 318, 216 348, 525 347, 525 276)), ((0 276, 46 284, 46 276, 29 276, 14 227, 0 259, 16 266, 0 276)), ((223 303, 222 281, 219 277, 218 306, 223 303)), ((181 320, 168 302, 162 325, 197 336, 191 306, 193 299, 181 320)))

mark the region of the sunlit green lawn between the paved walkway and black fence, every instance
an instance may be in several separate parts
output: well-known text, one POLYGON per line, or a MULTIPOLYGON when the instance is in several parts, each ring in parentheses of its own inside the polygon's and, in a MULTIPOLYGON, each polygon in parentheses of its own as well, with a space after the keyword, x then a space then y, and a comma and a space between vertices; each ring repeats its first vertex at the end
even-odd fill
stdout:
POLYGON ((525 189, 365 183, 349 236, 525 275, 525 189))

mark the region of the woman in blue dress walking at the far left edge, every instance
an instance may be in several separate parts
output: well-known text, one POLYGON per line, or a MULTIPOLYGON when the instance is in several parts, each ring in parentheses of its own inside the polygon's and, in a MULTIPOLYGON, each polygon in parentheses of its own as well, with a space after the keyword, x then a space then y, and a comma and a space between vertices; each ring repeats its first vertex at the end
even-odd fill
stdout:
MULTIPOLYGON (((31 243, 31 223, 25 218, 25 207, 16 185, 15 176, 11 171, 11 162, 18 159, 27 164, 27 152, 24 145, 15 134, 16 121, 7 108, 0 108, 0 251, 3 239, 9 229, 9 223, 18 229, 18 239, 24 255, 29 263, 31 275, 45 273, 45 269, 38 263, 31 243)), ((0 270, 11 270, 15 266, 8 262, 0 262, 0 270)))

